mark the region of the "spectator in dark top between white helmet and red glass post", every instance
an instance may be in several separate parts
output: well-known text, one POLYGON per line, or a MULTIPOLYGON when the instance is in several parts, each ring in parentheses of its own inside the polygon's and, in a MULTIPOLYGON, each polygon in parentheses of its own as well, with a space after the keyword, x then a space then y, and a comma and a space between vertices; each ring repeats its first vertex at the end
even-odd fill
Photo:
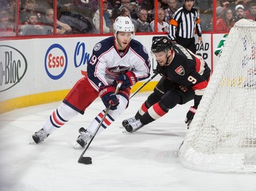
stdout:
POLYGON ((147 10, 141 9, 138 13, 138 19, 134 20, 133 24, 137 33, 152 32, 150 23, 147 22, 147 10))

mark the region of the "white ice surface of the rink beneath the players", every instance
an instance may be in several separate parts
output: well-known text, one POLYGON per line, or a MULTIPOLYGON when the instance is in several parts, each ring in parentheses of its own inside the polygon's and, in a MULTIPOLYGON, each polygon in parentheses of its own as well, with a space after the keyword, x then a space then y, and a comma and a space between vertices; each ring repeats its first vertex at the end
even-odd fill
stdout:
POLYGON ((167 115, 139 131, 123 133, 122 120, 134 116, 148 93, 130 106, 108 129, 96 135, 85 156, 73 145, 81 126, 87 127, 104 107, 100 99, 85 115, 73 118, 43 143, 29 144, 60 102, 0 115, 1 191, 255 191, 255 174, 208 173, 185 169, 177 150, 187 131, 190 105, 177 105, 167 115), (101 108, 101 109, 100 109, 101 108))

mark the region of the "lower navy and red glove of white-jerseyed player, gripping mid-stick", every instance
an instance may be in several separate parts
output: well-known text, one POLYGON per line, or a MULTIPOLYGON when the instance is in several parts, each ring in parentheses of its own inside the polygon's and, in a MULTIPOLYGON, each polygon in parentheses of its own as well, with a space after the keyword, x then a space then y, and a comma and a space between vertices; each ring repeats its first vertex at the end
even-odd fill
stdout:
POLYGON ((119 99, 115 95, 115 88, 113 86, 103 86, 99 90, 99 96, 102 99, 102 102, 106 107, 112 105, 110 109, 117 109, 117 105, 119 104, 119 99))

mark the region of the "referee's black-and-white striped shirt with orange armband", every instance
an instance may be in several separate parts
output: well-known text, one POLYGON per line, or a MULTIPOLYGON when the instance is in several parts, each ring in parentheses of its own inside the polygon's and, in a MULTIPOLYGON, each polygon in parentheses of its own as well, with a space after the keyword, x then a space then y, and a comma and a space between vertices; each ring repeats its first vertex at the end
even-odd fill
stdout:
POLYGON ((176 35, 184 39, 191 39, 194 37, 195 29, 197 29, 197 35, 201 37, 202 31, 197 10, 192 7, 188 11, 183 6, 173 14, 170 20, 169 37, 172 41, 175 41, 176 35))

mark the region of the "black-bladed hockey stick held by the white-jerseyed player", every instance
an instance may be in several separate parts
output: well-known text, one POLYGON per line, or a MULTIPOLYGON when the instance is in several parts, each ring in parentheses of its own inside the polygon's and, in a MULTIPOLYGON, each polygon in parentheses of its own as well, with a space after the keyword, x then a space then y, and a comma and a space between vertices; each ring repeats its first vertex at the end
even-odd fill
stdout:
MULTIPOLYGON (((117 88, 115 88, 115 94, 117 94, 119 88, 121 87, 122 83, 117 84, 117 88)), ((111 108, 111 105, 109 105, 108 108, 106 108, 105 114, 102 117, 102 120, 100 121, 100 123, 98 124, 96 131, 94 132, 94 136, 91 137, 91 140, 89 141, 89 143, 87 144, 87 147, 85 148, 85 150, 82 152, 81 156, 79 157, 79 163, 83 163, 83 164, 91 164, 91 157, 89 156, 83 156, 85 154, 85 152, 87 151, 89 145, 91 144, 91 141, 94 140, 94 137, 96 136, 96 134, 98 133, 100 126, 102 125, 102 123, 104 122, 104 119, 106 118, 106 116, 109 113, 109 109, 111 108)))

